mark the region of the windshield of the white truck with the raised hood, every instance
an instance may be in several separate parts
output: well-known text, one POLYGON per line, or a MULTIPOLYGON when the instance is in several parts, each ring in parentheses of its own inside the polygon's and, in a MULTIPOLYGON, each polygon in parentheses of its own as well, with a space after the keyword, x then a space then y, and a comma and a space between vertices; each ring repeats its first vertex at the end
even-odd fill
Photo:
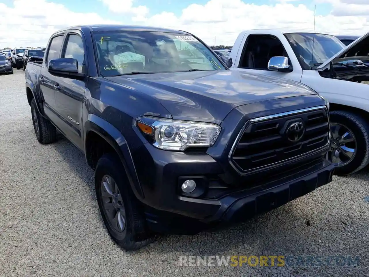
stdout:
POLYGON ((345 45, 332 35, 312 33, 285 34, 303 69, 315 69, 345 45), (314 37, 314 50, 313 50, 314 37))

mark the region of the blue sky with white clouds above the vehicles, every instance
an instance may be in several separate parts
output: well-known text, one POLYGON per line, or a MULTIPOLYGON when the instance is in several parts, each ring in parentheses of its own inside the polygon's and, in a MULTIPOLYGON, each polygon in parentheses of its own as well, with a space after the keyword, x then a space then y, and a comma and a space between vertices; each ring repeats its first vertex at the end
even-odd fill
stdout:
POLYGON ((61 28, 134 24, 189 31, 213 45, 232 45, 242 30, 369 31, 369 0, 0 0, 0 48, 45 46, 61 28))

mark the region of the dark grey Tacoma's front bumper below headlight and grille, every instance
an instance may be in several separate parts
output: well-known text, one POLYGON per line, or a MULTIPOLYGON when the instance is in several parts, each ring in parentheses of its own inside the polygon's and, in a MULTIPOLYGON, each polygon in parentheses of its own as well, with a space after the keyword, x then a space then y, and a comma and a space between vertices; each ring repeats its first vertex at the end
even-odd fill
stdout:
POLYGON ((222 168, 207 154, 186 155, 145 145, 133 157, 141 160, 137 174, 141 184, 145 184, 142 202, 146 204, 150 228, 179 234, 230 225, 270 211, 328 184, 334 172, 334 165, 322 151, 308 161, 296 163, 293 171, 268 175, 256 186, 248 184, 249 177, 239 177, 237 185, 230 185, 222 168), (147 150, 152 151, 154 159, 146 158, 147 150), (156 155, 161 155, 161 159, 156 160, 156 155), (200 185, 203 182, 203 194, 183 194, 180 185, 186 178, 200 180, 200 185))

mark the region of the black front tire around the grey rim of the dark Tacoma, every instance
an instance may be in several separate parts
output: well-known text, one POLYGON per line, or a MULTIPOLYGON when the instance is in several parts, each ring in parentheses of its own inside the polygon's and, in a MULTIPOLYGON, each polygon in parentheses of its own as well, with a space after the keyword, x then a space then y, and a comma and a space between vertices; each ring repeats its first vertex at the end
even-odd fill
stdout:
POLYGON ((152 241, 155 236, 146 228, 146 220, 142 211, 142 206, 133 194, 128 178, 124 176, 124 168, 119 158, 114 154, 104 154, 97 162, 95 171, 95 191, 97 203, 99 204, 100 213, 104 220, 104 224, 108 230, 110 237, 123 249, 137 250, 152 241), (117 185, 123 206, 125 209, 125 228, 118 232, 112 227, 111 220, 107 216, 104 208, 102 196, 102 180, 103 177, 109 175, 114 179, 117 185))

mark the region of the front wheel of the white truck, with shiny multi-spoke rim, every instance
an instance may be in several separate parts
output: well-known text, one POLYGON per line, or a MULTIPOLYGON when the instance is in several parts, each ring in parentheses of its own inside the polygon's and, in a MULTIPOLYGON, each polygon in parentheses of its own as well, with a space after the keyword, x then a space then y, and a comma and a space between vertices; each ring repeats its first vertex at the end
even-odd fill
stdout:
POLYGON ((335 175, 349 175, 369 163, 369 124, 358 114, 332 111, 329 157, 335 175))

